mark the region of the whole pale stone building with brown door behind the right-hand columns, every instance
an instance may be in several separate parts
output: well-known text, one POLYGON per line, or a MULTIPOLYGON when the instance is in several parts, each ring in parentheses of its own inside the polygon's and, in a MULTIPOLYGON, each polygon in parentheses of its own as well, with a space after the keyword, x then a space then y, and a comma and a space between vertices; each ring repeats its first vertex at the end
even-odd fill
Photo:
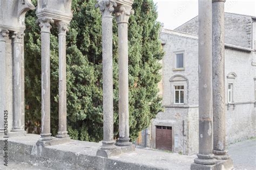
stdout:
MULTIPOLYGON (((256 17, 225 13, 227 144, 256 136, 256 17)), ((161 31, 164 112, 142 132, 140 145, 198 153, 198 17, 161 31), (146 140, 145 140, 146 139, 146 140)))

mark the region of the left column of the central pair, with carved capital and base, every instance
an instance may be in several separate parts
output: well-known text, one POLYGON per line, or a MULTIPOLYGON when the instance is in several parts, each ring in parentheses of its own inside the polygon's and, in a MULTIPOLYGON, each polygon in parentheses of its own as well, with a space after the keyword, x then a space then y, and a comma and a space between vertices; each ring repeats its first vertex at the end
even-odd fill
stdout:
POLYGON ((96 7, 102 11, 102 62, 103 62, 103 141, 102 150, 115 148, 113 140, 113 38, 112 26, 116 3, 112 0, 98 1, 96 7))

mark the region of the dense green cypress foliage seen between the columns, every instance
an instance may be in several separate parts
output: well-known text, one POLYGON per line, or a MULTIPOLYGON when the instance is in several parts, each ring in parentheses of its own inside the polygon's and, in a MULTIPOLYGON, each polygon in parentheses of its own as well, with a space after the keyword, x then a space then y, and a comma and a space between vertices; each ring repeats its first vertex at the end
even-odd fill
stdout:
MULTIPOLYGON (((36 0, 32 1, 36 5, 36 0)), ((103 139, 102 27, 95 0, 73 0, 73 20, 67 35, 68 131, 72 139, 103 139)), ((163 57, 160 24, 152 0, 135 0, 129 23, 130 134, 147 128, 161 110, 158 73, 163 57)), ((25 124, 29 132, 41 126, 41 40, 35 11, 26 15, 25 124)), ((58 131, 58 32, 51 29, 51 133, 58 131)), ((118 136, 117 23, 113 19, 114 135, 118 136)))

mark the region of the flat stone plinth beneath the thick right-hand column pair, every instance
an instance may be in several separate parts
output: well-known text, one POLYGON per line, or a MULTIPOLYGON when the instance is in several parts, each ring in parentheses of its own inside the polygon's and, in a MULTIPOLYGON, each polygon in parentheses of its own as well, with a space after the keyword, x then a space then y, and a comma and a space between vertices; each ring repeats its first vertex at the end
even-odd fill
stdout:
POLYGON ((231 159, 217 160, 215 165, 200 165, 200 164, 193 163, 190 166, 191 170, 219 170, 219 169, 231 170, 233 168, 234 168, 233 161, 231 159))

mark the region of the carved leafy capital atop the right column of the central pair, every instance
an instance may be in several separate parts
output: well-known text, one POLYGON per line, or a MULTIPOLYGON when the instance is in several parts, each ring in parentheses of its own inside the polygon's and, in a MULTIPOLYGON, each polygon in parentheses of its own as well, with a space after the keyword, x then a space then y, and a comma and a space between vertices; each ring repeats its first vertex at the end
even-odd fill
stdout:
POLYGON ((117 23, 127 23, 129 22, 130 15, 134 13, 132 6, 130 5, 118 5, 114 10, 116 14, 117 23))

